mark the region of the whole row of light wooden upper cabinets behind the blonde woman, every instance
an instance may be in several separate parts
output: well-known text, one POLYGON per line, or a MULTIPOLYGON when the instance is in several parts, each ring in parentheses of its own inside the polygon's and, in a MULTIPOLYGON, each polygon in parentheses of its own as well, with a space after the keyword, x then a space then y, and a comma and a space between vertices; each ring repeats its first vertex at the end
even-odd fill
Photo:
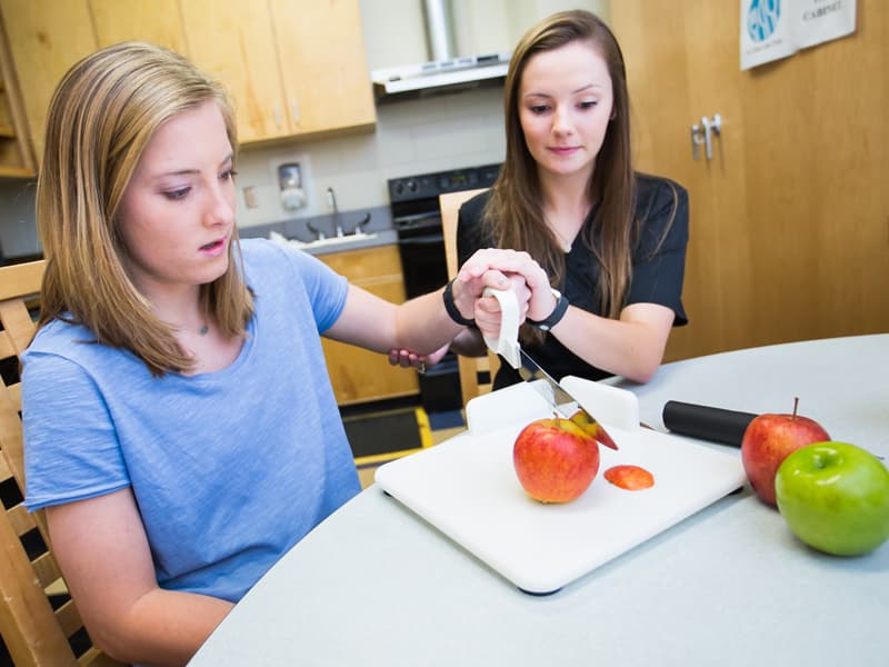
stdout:
POLYGON ((64 72, 130 39, 169 47, 219 78, 242 143, 376 123, 358 0, 0 0, 0 10, 38 157, 64 72))

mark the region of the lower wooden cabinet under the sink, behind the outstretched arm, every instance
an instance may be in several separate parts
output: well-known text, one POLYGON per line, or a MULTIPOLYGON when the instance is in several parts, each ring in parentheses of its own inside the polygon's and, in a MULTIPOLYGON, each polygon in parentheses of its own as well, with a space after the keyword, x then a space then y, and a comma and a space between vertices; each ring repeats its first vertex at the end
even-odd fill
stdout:
MULTIPOLYGON (((401 303, 404 280, 398 246, 379 246, 318 257, 349 281, 378 297, 401 303)), ((322 339, 333 394, 341 406, 419 394, 413 369, 389 366, 389 358, 334 340, 322 339)))

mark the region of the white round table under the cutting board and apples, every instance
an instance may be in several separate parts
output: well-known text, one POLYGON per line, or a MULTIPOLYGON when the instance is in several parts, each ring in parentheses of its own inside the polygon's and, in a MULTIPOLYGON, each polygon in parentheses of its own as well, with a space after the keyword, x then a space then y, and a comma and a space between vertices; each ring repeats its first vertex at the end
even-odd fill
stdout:
MULTIPOLYGON (((816 418, 889 457, 889 335, 665 365, 617 382, 667 400, 816 418)), ((723 447, 723 446, 717 446, 723 447)), ((728 451, 737 451, 725 447, 728 451)), ((549 597, 520 593, 376 485, 238 604, 192 667, 889 664, 889 544, 805 547, 749 486, 549 597)))

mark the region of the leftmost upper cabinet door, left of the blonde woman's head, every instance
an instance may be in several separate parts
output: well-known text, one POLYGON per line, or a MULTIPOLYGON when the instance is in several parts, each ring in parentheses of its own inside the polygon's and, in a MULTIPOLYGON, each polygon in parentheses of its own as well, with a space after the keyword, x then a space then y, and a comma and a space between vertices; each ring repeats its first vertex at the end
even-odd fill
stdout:
POLYGON ((87 0, 0 0, 28 128, 38 160, 52 93, 70 67, 92 53, 87 0))

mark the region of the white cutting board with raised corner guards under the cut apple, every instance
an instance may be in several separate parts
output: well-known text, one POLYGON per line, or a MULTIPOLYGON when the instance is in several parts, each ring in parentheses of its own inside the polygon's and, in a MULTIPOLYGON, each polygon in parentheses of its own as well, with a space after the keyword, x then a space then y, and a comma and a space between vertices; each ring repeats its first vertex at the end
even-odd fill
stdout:
POLYGON ((570 390, 608 428, 619 451, 600 446, 599 472, 572 502, 532 500, 516 477, 516 437, 532 419, 551 414, 528 384, 473 399, 467 410, 468 431, 381 466, 374 479, 509 581, 533 594, 562 588, 746 482, 737 452, 627 428, 627 416, 638 414, 636 397, 621 389, 600 389, 600 385, 583 391, 585 382, 573 379, 570 390), (613 411, 621 426, 591 405, 601 391, 631 397, 618 395, 617 402, 623 405, 613 411), (605 470, 621 464, 648 469, 655 486, 627 491, 606 481, 605 470))

